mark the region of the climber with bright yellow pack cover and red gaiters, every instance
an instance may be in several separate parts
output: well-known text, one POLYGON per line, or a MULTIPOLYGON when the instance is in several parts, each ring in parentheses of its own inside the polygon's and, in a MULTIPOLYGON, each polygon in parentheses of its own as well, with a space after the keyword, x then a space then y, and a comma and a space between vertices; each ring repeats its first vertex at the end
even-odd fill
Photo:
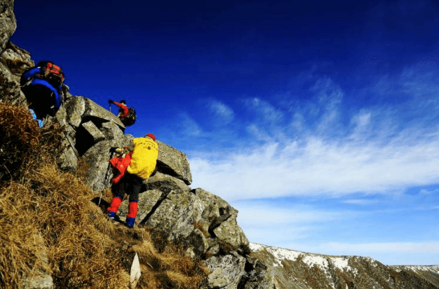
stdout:
POLYGON ((134 227, 137 216, 138 194, 141 192, 143 181, 148 179, 155 171, 159 146, 155 142, 155 136, 148 133, 143 138, 134 138, 131 143, 120 149, 112 147, 110 152, 115 152, 118 157, 111 158, 113 167, 113 199, 106 209, 110 219, 116 217, 119 206, 125 193, 129 195, 128 214, 125 225, 134 227))

